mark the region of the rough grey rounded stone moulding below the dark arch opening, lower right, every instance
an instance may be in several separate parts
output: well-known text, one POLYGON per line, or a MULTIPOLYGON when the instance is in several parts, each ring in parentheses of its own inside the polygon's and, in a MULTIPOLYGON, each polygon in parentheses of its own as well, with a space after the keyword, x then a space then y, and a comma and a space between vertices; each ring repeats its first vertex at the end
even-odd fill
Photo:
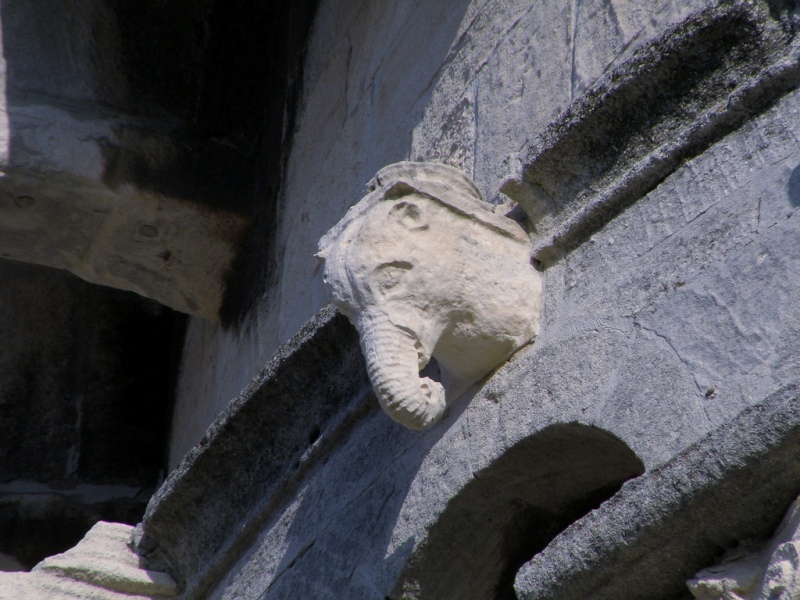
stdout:
POLYGON ((626 483, 520 569, 518 597, 687 595, 686 579, 737 540, 771 535, 797 497, 798 400, 788 384, 626 483))

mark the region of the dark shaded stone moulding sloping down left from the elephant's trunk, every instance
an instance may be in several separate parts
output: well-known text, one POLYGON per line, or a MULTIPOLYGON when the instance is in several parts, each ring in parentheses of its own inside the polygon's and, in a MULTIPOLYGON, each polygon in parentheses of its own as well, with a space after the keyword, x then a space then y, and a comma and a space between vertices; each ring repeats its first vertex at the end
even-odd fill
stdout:
POLYGON ((170 569, 187 597, 205 597, 373 408, 357 334, 326 309, 275 354, 170 474, 148 506, 137 551, 170 569))

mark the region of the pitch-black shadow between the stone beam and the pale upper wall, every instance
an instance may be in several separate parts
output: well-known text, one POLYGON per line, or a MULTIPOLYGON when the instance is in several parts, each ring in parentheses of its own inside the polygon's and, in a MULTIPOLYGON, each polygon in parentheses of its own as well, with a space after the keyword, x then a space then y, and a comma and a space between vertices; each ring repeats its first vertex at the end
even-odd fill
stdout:
POLYGON ((113 4, 124 24, 129 88, 180 115, 184 125, 160 139, 151 131, 126 131, 123 145, 107 148, 106 178, 251 220, 249 233, 235 240, 237 259, 220 309, 223 324, 236 326, 275 269, 283 169, 317 0, 178 4, 186 6, 113 4), (166 149, 156 162, 153 146, 166 149))

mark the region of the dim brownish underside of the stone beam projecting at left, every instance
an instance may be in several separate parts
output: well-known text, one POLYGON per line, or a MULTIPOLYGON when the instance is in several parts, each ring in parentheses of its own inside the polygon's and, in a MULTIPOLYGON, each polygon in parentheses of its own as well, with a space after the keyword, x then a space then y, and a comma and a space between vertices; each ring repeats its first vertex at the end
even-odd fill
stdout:
MULTIPOLYGON (((73 153, 86 155, 81 148, 73 153)), ((53 166, 55 173, 0 168, 0 257, 66 269, 180 312, 218 318, 246 218, 60 175, 66 165, 53 166)))

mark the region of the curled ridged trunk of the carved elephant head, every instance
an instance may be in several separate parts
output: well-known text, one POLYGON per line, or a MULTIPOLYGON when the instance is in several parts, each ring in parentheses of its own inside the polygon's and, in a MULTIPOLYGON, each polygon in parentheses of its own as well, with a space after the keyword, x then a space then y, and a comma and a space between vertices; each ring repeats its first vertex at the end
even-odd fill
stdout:
POLYGON ((415 336, 386 317, 362 320, 361 348, 378 402, 389 416, 411 429, 425 429, 442 418, 442 385, 419 376, 420 353, 415 336))

